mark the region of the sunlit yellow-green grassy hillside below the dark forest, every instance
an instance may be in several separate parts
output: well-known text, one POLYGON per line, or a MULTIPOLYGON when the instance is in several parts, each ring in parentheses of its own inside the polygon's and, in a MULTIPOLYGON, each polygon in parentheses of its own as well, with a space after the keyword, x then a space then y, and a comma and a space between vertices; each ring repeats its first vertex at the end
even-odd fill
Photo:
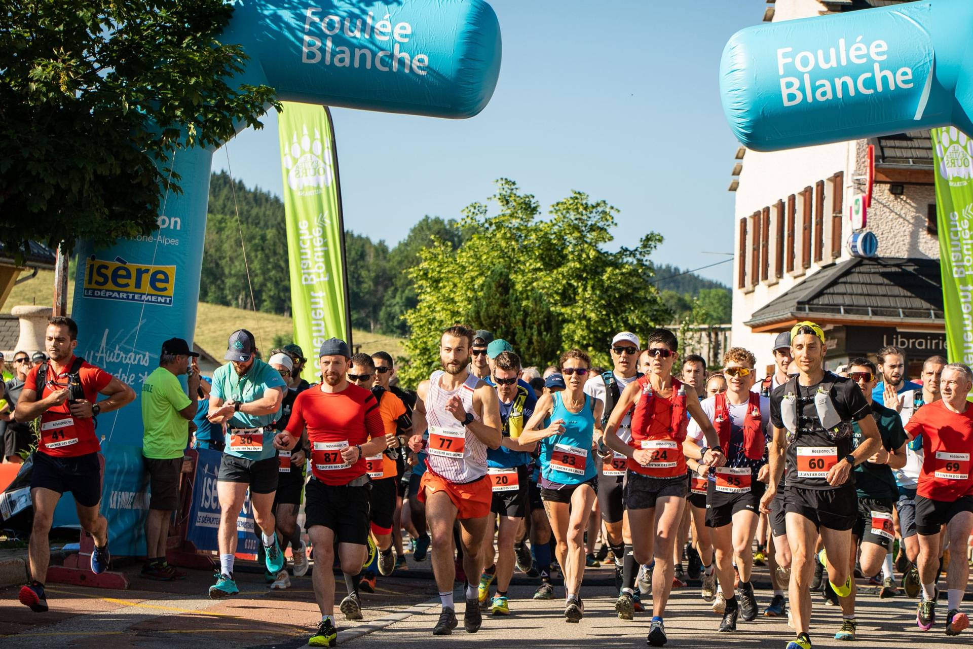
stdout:
MULTIPOLYGON (((74 298, 74 281, 68 282, 68 310, 74 298)), ((4 313, 18 305, 51 305, 54 301, 54 271, 41 270, 37 276, 14 287, 7 302, 0 308, 4 313)), ((244 326, 257 337, 263 349, 270 349, 275 336, 290 338, 293 335, 291 318, 272 313, 247 311, 232 306, 207 305, 200 302, 196 317, 196 343, 216 358, 226 351, 227 338, 234 329, 244 326)), ((383 349, 392 356, 405 354, 403 340, 382 334, 353 330, 353 342, 362 345, 362 351, 372 353, 383 349)), ((305 349, 305 355, 312 357, 305 349)))

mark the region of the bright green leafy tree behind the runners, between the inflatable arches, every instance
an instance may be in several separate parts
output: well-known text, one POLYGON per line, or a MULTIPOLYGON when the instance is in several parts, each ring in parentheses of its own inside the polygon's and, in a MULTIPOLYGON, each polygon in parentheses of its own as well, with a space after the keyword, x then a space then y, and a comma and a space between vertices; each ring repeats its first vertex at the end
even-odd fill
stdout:
POLYGON ((572 192, 542 219, 539 203, 516 183, 497 186, 495 215, 471 204, 459 224, 461 244, 435 237, 408 272, 417 303, 406 314, 407 383, 438 366, 440 332, 456 322, 510 340, 528 364, 553 363, 560 351, 580 347, 604 365, 612 335, 631 329, 644 336, 667 316, 646 279, 659 234, 607 252, 616 210, 604 200, 572 192))

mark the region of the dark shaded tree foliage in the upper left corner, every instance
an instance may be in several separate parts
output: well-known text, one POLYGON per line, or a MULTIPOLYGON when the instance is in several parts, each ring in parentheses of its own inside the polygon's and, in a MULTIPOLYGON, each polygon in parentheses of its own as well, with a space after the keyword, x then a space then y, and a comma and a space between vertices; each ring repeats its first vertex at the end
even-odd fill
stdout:
MULTIPOLYGON (((42 0, 0 11, 0 242, 70 250, 156 227, 166 157, 261 126, 268 87, 216 40, 227 0, 42 0)), ((171 174, 169 191, 179 191, 171 174)))

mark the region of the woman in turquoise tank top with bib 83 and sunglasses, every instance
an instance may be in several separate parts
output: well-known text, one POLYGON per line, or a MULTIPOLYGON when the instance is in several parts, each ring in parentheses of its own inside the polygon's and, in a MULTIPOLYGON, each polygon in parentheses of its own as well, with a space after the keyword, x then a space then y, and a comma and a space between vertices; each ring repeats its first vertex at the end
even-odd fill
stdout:
POLYGON ((581 580, 585 576, 585 530, 595 506, 595 428, 601 430, 604 404, 585 394, 591 359, 580 349, 560 356, 567 389, 545 394, 521 434, 522 444, 540 442, 541 499, 558 542, 564 570, 567 622, 584 615, 581 580), (544 420, 550 417, 550 425, 544 420))

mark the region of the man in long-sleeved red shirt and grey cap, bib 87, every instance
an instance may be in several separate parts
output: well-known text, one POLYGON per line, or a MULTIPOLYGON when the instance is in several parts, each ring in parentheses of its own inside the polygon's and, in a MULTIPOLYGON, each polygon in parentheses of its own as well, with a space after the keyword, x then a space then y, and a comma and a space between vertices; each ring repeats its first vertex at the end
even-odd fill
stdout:
MULTIPOLYGON (((335 627, 335 543, 345 580, 361 572, 368 559, 369 478, 365 458, 385 450, 384 427, 378 403, 370 390, 348 382, 348 345, 337 338, 321 343, 320 385, 294 400, 287 428, 273 440, 280 451, 290 451, 307 429, 311 447, 312 477, 305 490, 307 536, 314 546, 314 598, 321 623, 308 641, 313 647, 338 644, 335 627), (371 438, 371 440, 369 439, 371 438)), ((355 595, 342 601, 348 619, 361 619, 361 602, 355 595)))

